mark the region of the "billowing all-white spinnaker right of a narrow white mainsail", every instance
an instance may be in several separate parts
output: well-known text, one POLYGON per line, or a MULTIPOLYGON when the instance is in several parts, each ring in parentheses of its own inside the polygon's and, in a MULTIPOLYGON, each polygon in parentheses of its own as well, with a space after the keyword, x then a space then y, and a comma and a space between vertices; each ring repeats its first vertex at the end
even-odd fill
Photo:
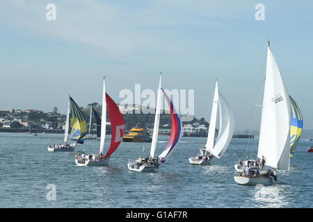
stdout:
POLYGON ((220 128, 218 129, 218 137, 216 139, 212 155, 222 157, 227 150, 232 135, 234 134, 234 114, 230 109, 224 96, 218 92, 218 108, 220 115, 220 128))

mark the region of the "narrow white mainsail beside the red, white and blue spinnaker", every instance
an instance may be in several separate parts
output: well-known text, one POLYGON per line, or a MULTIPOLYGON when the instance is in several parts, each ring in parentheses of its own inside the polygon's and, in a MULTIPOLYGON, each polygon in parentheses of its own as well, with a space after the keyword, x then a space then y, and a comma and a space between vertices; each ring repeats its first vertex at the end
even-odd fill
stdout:
POLYGON ((157 148, 157 139, 158 139, 158 133, 159 133, 159 121, 160 121, 160 112, 161 112, 161 93, 162 93, 161 92, 161 78, 162 76, 160 74, 159 88, 157 92, 157 108, 155 109, 150 157, 154 157, 155 149, 157 148))

